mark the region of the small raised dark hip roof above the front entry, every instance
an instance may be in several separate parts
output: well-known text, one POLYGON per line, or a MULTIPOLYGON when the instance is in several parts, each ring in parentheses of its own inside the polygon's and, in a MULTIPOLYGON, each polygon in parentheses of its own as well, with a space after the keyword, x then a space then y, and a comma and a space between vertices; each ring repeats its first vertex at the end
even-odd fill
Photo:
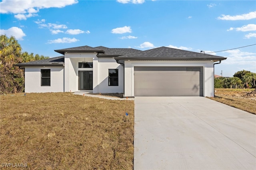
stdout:
POLYGON ((104 50, 97 49, 97 48, 94 48, 94 47, 90 47, 88 45, 80 46, 80 47, 56 49, 54 51, 56 51, 58 53, 61 53, 63 55, 64 55, 65 52, 100 52, 100 53, 105 53, 104 50))

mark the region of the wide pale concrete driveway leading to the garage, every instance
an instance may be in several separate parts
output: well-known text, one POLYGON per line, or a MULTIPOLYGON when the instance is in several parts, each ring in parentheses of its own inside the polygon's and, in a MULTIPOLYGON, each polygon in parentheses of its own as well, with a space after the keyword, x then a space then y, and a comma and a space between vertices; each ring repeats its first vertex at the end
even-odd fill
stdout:
POLYGON ((256 115, 205 97, 134 101, 134 170, 256 169, 256 115))

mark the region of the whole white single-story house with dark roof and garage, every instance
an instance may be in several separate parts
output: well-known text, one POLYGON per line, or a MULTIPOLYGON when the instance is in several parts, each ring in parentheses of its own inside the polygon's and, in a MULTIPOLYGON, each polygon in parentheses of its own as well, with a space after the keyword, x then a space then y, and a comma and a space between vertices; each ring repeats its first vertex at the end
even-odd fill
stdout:
POLYGON ((19 63, 25 92, 92 91, 134 96, 214 96, 214 62, 225 57, 169 47, 74 47, 60 57, 19 63))

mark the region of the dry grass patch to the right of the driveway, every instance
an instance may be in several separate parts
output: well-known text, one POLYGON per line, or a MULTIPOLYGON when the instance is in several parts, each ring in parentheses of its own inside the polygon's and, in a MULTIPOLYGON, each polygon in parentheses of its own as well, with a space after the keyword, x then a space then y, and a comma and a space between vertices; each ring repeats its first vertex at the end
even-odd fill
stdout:
POLYGON ((254 89, 215 89, 215 97, 209 99, 256 114, 256 96, 246 96, 254 89))

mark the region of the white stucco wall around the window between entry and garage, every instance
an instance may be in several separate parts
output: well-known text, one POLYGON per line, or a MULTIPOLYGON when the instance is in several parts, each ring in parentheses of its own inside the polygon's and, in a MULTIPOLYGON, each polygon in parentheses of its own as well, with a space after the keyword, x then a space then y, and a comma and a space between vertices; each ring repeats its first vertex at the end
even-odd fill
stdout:
POLYGON ((124 67, 116 63, 116 60, 114 58, 98 58, 97 77, 98 85, 97 88, 93 90, 93 93, 124 92, 124 67), (108 69, 118 69, 118 86, 108 86, 108 69))

